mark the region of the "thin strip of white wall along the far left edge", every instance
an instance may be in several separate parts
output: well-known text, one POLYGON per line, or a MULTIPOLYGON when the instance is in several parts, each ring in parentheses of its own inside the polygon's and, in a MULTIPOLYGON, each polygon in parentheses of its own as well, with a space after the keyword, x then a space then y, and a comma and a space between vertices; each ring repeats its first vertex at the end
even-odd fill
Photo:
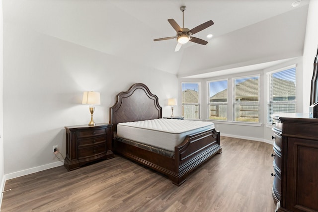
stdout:
POLYGON ((2 191, 4 189, 3 167, 3 15, 2 0, 0 0, 0 208, 2 200, 2 191))

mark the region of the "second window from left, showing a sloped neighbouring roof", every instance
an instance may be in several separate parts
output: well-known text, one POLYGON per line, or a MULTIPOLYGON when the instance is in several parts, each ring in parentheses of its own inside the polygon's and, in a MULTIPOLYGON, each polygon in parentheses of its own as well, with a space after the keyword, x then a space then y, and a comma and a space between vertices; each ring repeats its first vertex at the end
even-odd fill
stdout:
POLYGON ((209 81, 208 119, 227 120, 228 80, 209 81))

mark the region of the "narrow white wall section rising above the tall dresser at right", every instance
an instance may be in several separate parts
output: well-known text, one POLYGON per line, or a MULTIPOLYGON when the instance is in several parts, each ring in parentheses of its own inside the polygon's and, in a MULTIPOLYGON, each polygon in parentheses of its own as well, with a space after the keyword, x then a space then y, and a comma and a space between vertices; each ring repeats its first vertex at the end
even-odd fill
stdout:
POLYGON ((318 0, 311 0, 308 8, 306 36, 304 44, 304 112, 309 112, 311 80, 314 60, 318 48, 318 0))

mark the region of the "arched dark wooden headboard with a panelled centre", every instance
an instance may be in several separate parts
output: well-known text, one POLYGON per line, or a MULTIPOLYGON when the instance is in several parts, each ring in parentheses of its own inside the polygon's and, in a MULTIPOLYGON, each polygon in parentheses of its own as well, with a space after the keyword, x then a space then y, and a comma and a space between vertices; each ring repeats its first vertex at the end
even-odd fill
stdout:
POLYGON ((117 124, 162 118, 158 97, 143 83, 133 84, 128 91, 117 94, 114 106, 109 108, 109 122, 117 131, 117 124))

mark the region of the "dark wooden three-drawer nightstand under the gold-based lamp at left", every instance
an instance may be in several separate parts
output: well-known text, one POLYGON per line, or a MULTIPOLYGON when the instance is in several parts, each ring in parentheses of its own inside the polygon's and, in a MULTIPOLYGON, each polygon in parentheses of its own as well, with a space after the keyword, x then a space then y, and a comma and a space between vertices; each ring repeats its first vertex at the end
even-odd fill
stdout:
POLYGON ((78 125, 66 129, 66 157, 64 166, 71 171, 100 159, 114 157, 111 150, 111 128, 109 124, 96 126, 78 125))

